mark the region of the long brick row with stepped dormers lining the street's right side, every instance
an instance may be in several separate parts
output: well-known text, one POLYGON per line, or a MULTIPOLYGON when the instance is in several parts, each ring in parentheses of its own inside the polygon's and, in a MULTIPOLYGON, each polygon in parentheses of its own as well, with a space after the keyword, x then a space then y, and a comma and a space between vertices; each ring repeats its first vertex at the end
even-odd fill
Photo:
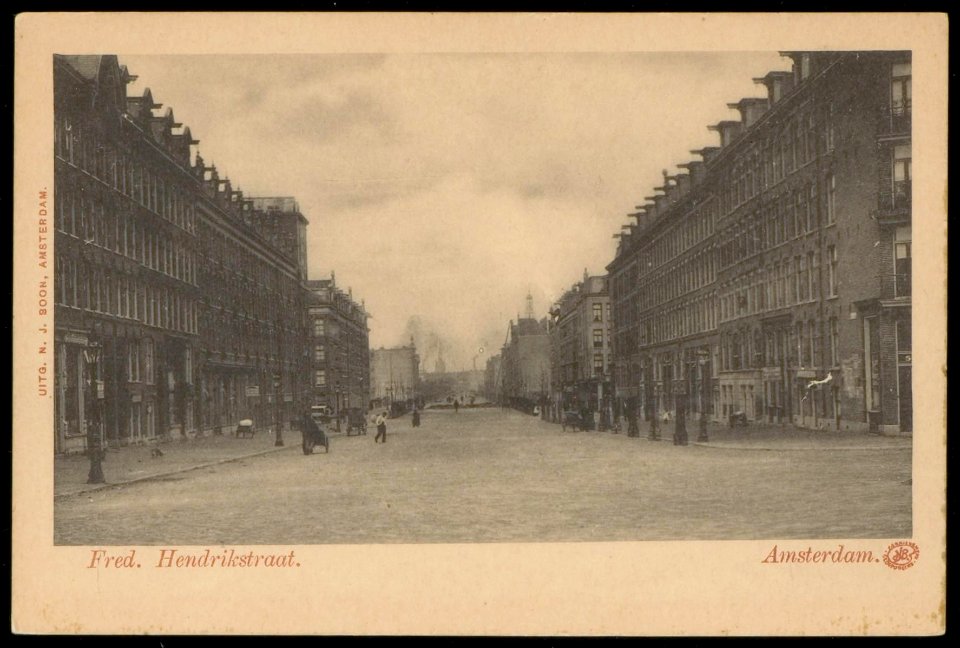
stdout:
POLYGON ((909 432, 910 55, 786 55, 620 235, 617 389, 647 418, 909 432))

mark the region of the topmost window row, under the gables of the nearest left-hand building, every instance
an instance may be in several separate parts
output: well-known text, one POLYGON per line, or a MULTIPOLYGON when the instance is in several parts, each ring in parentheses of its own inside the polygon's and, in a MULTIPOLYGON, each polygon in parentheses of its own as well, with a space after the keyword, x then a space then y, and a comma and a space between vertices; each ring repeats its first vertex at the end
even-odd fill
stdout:
POLYGON ((68 115, 54 122, 54 151, 109 187, 188 232, 196 228, 191 192, 144 164, 142 156, 118 150, 68 115))

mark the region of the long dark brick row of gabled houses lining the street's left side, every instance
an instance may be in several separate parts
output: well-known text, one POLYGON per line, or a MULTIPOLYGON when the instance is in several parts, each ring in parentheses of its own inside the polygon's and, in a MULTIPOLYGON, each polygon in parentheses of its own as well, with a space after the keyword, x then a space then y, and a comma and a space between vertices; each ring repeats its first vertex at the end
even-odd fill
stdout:
POLYGON ((302 374, 296 259, 135 79, 54 57, 57 452, 285 420, 302 374))

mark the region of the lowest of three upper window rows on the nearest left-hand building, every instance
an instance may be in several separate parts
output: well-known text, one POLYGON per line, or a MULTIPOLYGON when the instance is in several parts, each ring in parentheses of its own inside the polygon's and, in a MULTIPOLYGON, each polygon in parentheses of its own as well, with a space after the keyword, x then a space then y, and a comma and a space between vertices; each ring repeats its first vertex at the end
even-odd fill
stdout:
POLYGON ((167 287, 155 287, 58 255, 57 304, 113 315, 183 333, 196 333, 197 304, 167 287))

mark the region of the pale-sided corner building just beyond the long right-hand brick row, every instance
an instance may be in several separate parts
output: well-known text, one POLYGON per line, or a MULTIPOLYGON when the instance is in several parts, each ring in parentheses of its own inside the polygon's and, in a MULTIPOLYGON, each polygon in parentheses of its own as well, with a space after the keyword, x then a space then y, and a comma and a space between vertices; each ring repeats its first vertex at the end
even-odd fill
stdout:
POLYGON ((563 410, 587 407, 597 412, 612 405, 612 317, 605 276, 574 284, 551 315, 553 390, 563 410))

